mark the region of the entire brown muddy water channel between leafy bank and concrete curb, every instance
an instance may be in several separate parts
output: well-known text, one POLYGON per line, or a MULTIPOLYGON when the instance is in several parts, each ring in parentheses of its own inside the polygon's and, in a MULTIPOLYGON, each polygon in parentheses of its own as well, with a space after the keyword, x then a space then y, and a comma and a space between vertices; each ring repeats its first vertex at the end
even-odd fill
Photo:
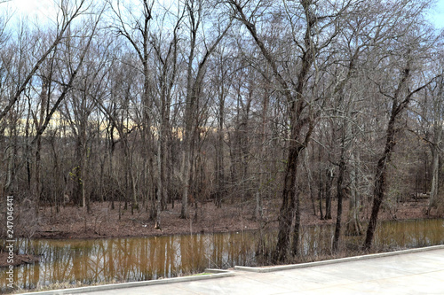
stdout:
MULTIPOLYGON (((333 226, 302 229, 301 249, 306 260, 330 252, 333 226)), ((274 241, 275 232, 266 234, 274 241)), ((152 280, 186 276, 204 268, 255 266, 258 231, 168 237, 131 237, 95 240, 17 241, 20 253, 40 255, 40 262, 14 268, 14 284, 24 290, 45 285, 75 285, 152 280)), ((344 245, 359 248, 363 237, 342 237, 344 245)), ((381 222, 375 237, 377 251, 444 244, 444 220, 381 222)), ((4 273, 6 268, 0 269, 4 273)), ((8 292, 2 279, 0 292, 8 292)))

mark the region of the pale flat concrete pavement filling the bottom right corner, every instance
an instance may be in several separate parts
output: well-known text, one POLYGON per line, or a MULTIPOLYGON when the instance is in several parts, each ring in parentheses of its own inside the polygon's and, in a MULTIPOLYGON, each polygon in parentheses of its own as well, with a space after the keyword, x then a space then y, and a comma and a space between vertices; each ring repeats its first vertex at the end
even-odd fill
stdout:
POLYGON ((252 271, 236 269, 230 276, 209 280, 80 293, 90 295, 444 294, 443 246, 429 247, 424 251, 405 251, 395 255, 375 254, 303 266, 242 269, 252 271), (258 272, 264 270, 266 272, 258 272))

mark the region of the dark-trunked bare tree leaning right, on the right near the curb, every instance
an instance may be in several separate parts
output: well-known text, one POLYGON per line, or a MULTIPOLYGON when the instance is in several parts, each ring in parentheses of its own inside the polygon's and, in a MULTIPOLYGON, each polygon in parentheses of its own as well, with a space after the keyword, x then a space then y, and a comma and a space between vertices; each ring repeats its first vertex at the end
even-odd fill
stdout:
POLYGON ((432 35, 419 33, 423 29, 420 18, 426 7, 426 3, 420 2, 413 4, 406 0, 406 4, 412 5, 394 4, 392 7, 392 11, 393 9, 397 9, 398 16, 396 19, 399 21, 395 23, 396 27, 392 27, 394 31, 392 31, 392 33, 399 37, 386 40, 386 46, 394 47, 398 55, 386 55, 386 58, 379 59, 381 66, 393 66, 392 71, 398 74, 398 81, 393 85, 387 81, 381 81, 380 79, 383 77, 379 77, 376 82, 380 94, 390 99, 391 106, 389 110, 389 120, 385 129, 385 148, 377 161, 373 190, 373 206, 369 227, 363 244, 363 248, 366 250, 369 250, 372 244, 377 227, 377 215, 385 196, 387 166, 391 160, 392 152, 396 144, 396 136, 400 131, 397 123, 416 93, 425 89, 434 80, 434 78, 432 78, 432 80, 424 79, 421 76, 414 79, 414 74, 421 71, 421 65, 424 65, 424 59, 420 62, 417 59, 419 56, 422 56, 420 52, 428 50, 435 40, 432 35), (406 7, 408 7, 409 10, 405 9, 406 7), (415 23, 413 21, 415 21, 415 23), (393 62, 393 58, 396 62, 393 62), (413 89, 412 84, 414 85, 413 89))

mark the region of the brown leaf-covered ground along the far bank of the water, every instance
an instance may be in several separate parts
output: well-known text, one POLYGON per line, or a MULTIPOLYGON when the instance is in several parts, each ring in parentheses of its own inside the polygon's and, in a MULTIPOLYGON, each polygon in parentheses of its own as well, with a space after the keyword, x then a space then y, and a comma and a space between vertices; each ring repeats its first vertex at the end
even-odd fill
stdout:
MULTIPOLYGON (((76 206, 59 207, 59 213, 51 206, 40 208, 36 221, 28 220, 35 226, 31 238, 50 239, 85 239, 85 238, 107 238, 107 237, 148 237, 163 235, 194 234, 208 232, 228 232, 245 229, 258 229, 260 222, 254 218, 255 201, 242 204, 226 202, 221 208, 213 202, 199 204, 197 209, 189 207, 190 218, 181 219, 180 203, 174 208, 171 205, 161 214, 161 229, 155 229, 155 221, 150 220, 149 213, 145 210, 134 210, 131 214, 131 206, 123 210, 121 206, 121 217, 119 219, 119 203, 115 203, 115 209, 111 209, 111 203, 91 204, 91 213, 85 208, 76 206)), ((264 201, 264 218, 262 224, 267 228, 277 228, 277 216, 280 208, 280 200, 264 201)), ((427 200, 408 201, 398 203, 396 206, 384 206, 379 213, 379 220, 406 220, 421 218, 442 217, 442 213, 425 215, 427 200)), ((319 203, 316 204, 319 206, 319 203)), ((313 206, 310 200, 303 200, 301 204, 301 224, 333 224, 336 222, 337 202, 332 203, 332 219, 321 220, 319 207, 317 214, 313 214, 313 206)), ((369 219, 370 205, 363 206, 361 218, 363 221, 369 219)), ((325 213, 325 206, 323 208, 325 213)), ((343 220, 348 213, 348 200, 344 202, 343 220)), ((18 233, 20 236, 20 233, 18 233)), ((21 235, 26 237, 27 235, 21 235)), ((29 231, 28 231, 29 237, 29 231)), ((0 251, 0 267, 6 266, 7 253, 0 251)), ((14 264, 29 263, 34 258, 16 256, 14 264), (20 263, 21 261, 21 263, 20 263)))

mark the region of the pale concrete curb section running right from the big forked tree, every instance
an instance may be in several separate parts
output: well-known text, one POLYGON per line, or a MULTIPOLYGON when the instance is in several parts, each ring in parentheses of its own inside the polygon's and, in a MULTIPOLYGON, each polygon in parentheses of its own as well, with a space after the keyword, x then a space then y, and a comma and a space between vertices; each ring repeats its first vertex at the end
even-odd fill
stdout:
POLYGON ((310 267, 316 267, 316 266, 328 265, 328 264, 334 264, 334 263, 341 263, 341 262, 347 262, 347 261, 369 260, 369 259, 374 259, 374 258, 381 258, 381 257, 395 256, 395 255, 416 253, 416 252, 425 252, 425 251, 432 251, 432 250, 439 250, 439 249, 444 249, 444 245, 435 245, 435 246, 424 247, 424 248, 408 249, 408 250, 401 250, 401 251, 394 251, 394 252, 384 252, 384 253, 369 254, 369 255, 362 255, 362 256, 353 256, 353 257, 340 258, 337 260, 322 260, 322 261, 307 262, 307 263, 300 263, 300 264, 289 264, 289 265, 283 265, 283 266, 277 266, 277 267, 251 268, 251 267, 235 266, 234 269, 235 270, 242 270, 242 271, 250 271, 250 272, 255 272, 255 273, 269 273, 269 272, 273 272, 273 271, 286 270, 286 269, 310 268, 310 267))

